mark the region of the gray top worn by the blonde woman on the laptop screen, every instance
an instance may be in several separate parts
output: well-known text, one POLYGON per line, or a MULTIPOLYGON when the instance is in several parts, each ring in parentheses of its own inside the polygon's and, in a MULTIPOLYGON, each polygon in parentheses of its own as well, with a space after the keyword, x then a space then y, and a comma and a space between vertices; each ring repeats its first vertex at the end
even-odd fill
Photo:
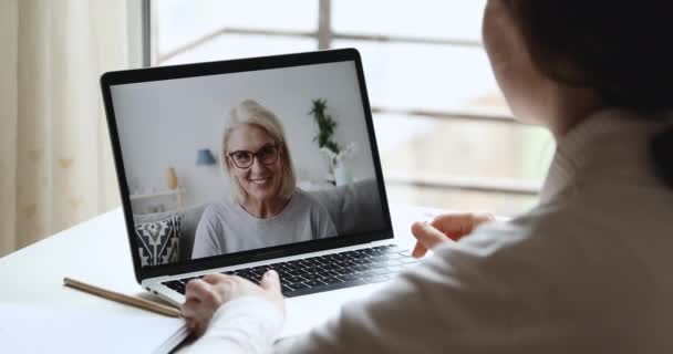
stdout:
POLYGON ((248 214, 237 202, 219 200, 206 208, 196 229, 191 258, 336 236, 328 210, 301 189, 270 219, 248 214))

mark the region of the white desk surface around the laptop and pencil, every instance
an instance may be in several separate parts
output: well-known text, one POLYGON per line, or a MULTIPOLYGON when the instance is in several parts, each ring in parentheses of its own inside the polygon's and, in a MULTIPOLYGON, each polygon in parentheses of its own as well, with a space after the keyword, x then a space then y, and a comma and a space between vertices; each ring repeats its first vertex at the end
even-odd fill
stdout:
MULTIPOLYGON (((429 219, 436 212, 435 209, 392 205, 397 242, 413 244, 411 223, 429 219)), ((161 301, 143 291, 135 281, 121 208, 1 258, 0 279, 7 285, 2 287, 0 302, 72 306, 115 313, 144 312, 65 288, 63 277, 161 301)))

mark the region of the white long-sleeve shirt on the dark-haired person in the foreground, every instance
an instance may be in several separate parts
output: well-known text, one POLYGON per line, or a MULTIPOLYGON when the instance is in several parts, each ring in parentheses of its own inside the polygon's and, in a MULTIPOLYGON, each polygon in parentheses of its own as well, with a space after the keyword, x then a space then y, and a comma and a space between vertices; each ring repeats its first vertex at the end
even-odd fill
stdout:
POLYGON ((673 353, 673 189, 648 155, 662 126, 629 115, 567 134, 531 211, 446 242, 310 333, 271 345, 281 313, 244 298, 190 350, 673 353))

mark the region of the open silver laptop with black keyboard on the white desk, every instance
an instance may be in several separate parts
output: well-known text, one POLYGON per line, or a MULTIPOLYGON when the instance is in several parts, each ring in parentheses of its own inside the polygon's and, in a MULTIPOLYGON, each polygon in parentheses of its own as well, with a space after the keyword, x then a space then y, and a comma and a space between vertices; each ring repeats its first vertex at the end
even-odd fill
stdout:
POLYGON ((286 335, 415 262, 395 244, 362 61, 329 50, 101 77, 137 282, 279 272, 286 335))

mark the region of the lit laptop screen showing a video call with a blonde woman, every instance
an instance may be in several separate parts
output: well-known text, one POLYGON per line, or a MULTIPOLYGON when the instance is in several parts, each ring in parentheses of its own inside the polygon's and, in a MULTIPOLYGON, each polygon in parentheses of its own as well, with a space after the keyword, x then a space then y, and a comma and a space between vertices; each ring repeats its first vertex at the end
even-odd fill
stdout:
POLYGON ((141 266, 390 228, 356 69, 111 85, 141 266))

